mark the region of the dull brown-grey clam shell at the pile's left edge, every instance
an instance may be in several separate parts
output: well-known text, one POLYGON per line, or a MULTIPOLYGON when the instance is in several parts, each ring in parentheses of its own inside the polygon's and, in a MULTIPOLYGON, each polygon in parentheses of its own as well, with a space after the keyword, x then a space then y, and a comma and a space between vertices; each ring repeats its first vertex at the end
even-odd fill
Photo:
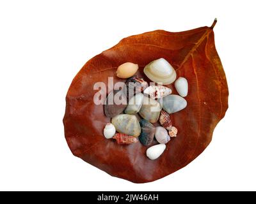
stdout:
POLYGON ((122 113, 125 108, 127 107, 127 96, 126 94, 121 90, 114 90, 111 91, 108 94, 108 97, 106 98, 106 101, 104 103, 104 113, 107 117, 115 117, 116 115, 122 113), (118 99, 121 98, 120 104, 115 103, 115 99, 118 97, 118 99))

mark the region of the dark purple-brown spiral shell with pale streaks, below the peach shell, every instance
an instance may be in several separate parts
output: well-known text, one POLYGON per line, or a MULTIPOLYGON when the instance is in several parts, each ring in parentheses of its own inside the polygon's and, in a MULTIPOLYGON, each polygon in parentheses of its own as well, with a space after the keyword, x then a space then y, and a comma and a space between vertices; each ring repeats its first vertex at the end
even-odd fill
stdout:
POLYGON ((144 91, 148 87, 148 83, 143 80, 143 78, 138 78, 136 76, 128 78, 125 82, 127 88, 127 98, 131 99, 136 93, 144 91))

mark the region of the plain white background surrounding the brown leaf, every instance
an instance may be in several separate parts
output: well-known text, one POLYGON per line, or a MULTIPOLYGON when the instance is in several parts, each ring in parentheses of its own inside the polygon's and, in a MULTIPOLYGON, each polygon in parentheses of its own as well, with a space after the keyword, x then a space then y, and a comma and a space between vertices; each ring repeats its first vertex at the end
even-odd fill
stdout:
POLYGON ((255 1, 0 1, 0 190, 256 190, 255 1), (83 64, 132 34, 211 25, 229 109, 209 147, 148 184, 68 149, 65 95, 83 64))

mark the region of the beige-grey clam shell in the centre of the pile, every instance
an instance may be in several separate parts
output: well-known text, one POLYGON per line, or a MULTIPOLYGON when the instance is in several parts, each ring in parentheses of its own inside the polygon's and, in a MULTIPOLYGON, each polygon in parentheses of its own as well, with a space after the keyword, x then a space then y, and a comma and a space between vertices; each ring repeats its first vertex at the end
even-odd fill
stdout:
POLYGON ((143 97, 143 105, 140 108, 140 116, 143 119, 148 120, 148 122, 157 122, 159 119, 159 115, 161 112, 161 105, 156 100, 152 98, 148 98, 146 96, 143 97))

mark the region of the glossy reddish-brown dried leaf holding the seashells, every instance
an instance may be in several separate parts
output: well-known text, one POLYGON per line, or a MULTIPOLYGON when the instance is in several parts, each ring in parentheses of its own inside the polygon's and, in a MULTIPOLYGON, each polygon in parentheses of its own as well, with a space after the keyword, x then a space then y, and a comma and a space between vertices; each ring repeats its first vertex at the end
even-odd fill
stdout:
POLYGON ((227 81, 214 45, 215 23, 179 33, 157 30, 130 36, 86 62, 66 98, 63 122, 72 153, 110 175, 136 183, 160 179, 193 161, 211 142, 212 132, 228 108, 227 81), (177 77, 188 79, 189 94, 188 106, 172 114, 173 125, 179 129, 177 138, 152 161, 146 157, 148 147, 140 142, 117 145, 104 138, 102 132, 110 119, 104 115, 103 105, 93 103, 97 92, 93 84, 108 84, 108 77, 124 81, 115 75, 124 62, 139 64, 138 76, 149 82, 143 68, 160 57, 172 64, 177 77))

